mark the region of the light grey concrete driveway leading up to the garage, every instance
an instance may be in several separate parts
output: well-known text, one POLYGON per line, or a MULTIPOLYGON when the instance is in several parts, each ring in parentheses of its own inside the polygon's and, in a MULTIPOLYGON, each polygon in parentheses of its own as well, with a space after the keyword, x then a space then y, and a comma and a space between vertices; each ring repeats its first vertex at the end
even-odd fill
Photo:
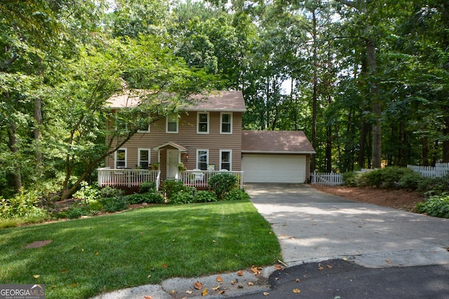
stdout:
POLYGON ((247 184, 287 265, 348 258, 366 267, 449 264, 449 219, 355 202, 306 184, 247 184))

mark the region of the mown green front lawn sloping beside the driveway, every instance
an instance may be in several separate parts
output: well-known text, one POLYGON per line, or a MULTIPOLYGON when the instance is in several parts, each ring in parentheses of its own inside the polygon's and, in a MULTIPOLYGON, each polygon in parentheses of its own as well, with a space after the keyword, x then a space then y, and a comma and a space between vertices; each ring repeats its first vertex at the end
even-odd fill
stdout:
POLYGON ((249 201, 163 205, 0 230, 2 284, 45 284, 46 298, 89 298, 279 258, 276 236, 249 201))

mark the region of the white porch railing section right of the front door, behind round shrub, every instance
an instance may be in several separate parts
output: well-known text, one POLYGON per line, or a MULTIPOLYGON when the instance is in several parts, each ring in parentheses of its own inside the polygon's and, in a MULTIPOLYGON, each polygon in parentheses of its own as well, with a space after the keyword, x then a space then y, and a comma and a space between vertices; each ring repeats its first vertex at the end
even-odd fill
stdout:
POLYGON ((208 181, 212 176, 223 173, 236 176, 237 182, 239 183, 239 188, 243 188, 243 172, 209 172, 207 170, 185 170, 184 172, 178 172, 175 179, 182 181, 182 183, 184 183, 186 186, 206 189, 209 187, 208 181))

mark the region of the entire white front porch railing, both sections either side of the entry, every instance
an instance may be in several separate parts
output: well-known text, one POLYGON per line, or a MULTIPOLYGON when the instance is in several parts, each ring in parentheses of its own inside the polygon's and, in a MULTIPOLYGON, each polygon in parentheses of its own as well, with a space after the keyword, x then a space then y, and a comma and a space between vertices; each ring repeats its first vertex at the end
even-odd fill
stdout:
MULTIPOLYGON (((147 169, 112 169, 109 167, 98 168, 98 187, 103 188, 110 186, 114 188, 122 188, 138 192, 139 186, 143 182, 154 181, 156 188, 159 190, 161 183, 161 170, 147 170, 147 169)), ((223 173, 223 171, 208 171, 208 170, 185 170, 175 172, 174 178, 185 186, 194 187, 196 189, 208 189, 208 181, 210 177, 223 173)), ((231 171, 226 172, 237 177, 239 188, 243 188, 243 172, 231 171)))

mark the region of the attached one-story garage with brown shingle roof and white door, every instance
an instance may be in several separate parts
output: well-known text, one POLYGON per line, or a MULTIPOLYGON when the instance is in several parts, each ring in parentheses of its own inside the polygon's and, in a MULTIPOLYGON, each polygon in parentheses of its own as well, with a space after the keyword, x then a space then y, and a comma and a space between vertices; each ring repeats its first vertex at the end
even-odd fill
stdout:
POLYGON ((304 183, 315 153, 302 131, 243 131, 241 169, 246 183, 304 183))

